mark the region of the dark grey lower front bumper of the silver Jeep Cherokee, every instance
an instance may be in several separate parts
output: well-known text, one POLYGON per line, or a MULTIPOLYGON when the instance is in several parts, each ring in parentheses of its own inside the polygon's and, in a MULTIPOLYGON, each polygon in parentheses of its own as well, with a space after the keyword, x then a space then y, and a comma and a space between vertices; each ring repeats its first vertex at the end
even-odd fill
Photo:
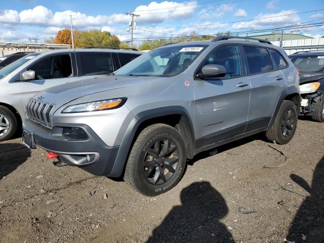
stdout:
MULTIPOLYGON (((66 164, 80 167, 94 175, 109 175, 114 166, 119 146, 107 146, 98 135, 84 124, 55 124, 52 129, 26 117, 24 131, 31 133, 33 145, 54 152, 66 164), (79 127, 88 134, 87 140, 63 137, 63 128, 79 127)), ((31 146, 31 148, 35 148, 31 146)))

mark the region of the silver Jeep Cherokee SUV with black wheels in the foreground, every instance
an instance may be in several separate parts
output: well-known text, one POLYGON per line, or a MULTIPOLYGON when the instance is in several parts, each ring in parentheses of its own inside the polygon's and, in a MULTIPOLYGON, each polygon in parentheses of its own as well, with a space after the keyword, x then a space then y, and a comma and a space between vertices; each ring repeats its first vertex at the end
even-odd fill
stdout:
POLYGON ((112 75, 39 93, 23 141, 95 175, 125 172, 149 196, 174 187, 201 151, 265 131, 286 144, 300 106, 297 70, 281 48, 236 38, 160 47, 112 75))

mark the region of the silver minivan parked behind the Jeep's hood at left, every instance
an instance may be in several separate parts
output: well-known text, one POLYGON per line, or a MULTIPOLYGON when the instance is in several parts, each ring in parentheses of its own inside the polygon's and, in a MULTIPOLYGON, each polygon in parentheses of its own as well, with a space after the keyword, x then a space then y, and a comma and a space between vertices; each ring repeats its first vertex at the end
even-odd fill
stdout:
POLYGON ((112 49, 53 50, 28 54, 4 67, 0 70, 0 141, 11 138, 21 127, 25 106, 34 94, 89 76, 109 74, 141 54, 112 49))

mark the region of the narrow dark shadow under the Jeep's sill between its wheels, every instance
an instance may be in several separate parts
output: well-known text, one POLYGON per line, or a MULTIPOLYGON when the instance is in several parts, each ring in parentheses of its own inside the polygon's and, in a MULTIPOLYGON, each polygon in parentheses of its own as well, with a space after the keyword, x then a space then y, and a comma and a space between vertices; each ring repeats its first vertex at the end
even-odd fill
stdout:
POLYGON ((254 140, 261 140, 261 141, 264 141, 264 142, 269 142, 269 140, 267 140, 264 133, 258 133, 258 134, 255 134, 255 135, 252 135, 252 136, 249 136, 249 137, 246 137, 246 138, 242 138, 242 139, 233 141, 231 143, 224 144, 224 145, 219 146, 217 148, 213 148, 213 149, 209 149, 209 150, 204 151, 204 152, 200 152, 200 153, 196 154, 193 157, 193 159, 188 159, 187 165, 192 166, 196 161, 198 161, 200 159, 207 158, 209 156, 212 156, 211 152, 213 152, 215 149, 217 149, 217 153, 221 153, 221 152, 230 150, 232 148, 239 147, 241 145, 253 142, 254 140))

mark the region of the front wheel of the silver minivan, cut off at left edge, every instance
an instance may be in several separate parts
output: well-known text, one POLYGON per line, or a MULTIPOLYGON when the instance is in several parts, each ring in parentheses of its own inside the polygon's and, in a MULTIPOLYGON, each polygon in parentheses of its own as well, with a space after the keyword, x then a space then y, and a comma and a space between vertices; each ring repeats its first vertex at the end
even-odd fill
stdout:
POLYGON ((17 117, 5 106, 0 105, 0 142, 10 139, 17 131, 17 117))

